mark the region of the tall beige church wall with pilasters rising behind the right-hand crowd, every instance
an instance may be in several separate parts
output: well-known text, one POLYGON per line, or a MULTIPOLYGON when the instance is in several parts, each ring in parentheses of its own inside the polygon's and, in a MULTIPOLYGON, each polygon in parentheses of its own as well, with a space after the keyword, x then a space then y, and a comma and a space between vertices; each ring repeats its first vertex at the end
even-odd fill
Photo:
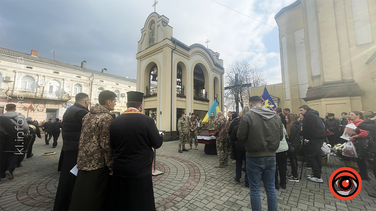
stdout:
POLYGON ((298 0, 275 19, 284 107, 376 111, 375 1, 298 0))

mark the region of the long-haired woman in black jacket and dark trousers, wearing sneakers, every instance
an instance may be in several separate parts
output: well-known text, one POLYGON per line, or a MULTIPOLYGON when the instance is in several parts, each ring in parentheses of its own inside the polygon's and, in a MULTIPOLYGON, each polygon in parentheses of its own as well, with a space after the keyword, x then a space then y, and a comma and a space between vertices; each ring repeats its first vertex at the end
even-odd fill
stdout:
POLYGON ((286 141, 291 144, 291 146, 294 148, 294 152, 290 152, 288 154, 291 162, 291 174, 287 175, 286 179, 288 181, 294 181, 299 182, 298 179, 298 162, 296 159, 296 153, 301 146, 301 140, 300 140, 300 123, 297 121, 297 118, 295 115, 288 113, 286 115, 286 141))

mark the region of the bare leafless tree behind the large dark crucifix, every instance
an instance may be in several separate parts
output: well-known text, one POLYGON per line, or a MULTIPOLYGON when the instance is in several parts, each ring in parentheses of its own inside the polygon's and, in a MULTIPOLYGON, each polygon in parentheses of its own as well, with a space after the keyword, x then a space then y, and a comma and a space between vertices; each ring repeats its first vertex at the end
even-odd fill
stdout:
MULTIPOLYGON (((251 87, 265 86, 265 73, 258 66, 252 66, 246 61, 235 60, 229 64, 224 72, 224 86, 233 86, 235 84, 235 74, 238 74, 239 83, 251 83, 251 87)), ((239 90, 239 103, 241 108, 248 105, 248 99, 251 96, 251 87, 244 87, 239 90)), ((224 90, 224 105, 230 110, 235 110, 235 91, 232 89, 224 90)))

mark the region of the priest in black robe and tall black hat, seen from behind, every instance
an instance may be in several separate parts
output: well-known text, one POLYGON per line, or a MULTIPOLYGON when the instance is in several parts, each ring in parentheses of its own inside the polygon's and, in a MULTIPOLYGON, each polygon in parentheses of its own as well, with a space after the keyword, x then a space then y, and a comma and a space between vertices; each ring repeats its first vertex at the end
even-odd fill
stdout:
POLYGON ((154 119, 142 113, 142 92, 127 92, 127 110, 110 127, 114 150, 109 210, 155 210, 152 163, 162 146, 154 119))

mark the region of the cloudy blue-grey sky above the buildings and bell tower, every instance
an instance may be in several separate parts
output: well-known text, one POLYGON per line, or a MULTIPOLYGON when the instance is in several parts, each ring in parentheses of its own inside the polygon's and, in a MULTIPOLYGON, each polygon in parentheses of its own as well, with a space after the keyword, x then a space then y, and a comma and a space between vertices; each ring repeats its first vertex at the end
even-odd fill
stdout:
MULTIPOLYGON (((217 0, 277 28, 274 15, 295 0, 217 0)), ((0 1, 0 47, 136 78, 137 42, 153 0, 0 1)), ((156 12, 170 19, 174 38, 261 67, 268 84, 281 83, 278 30, 211 0, 158 0, 156 12)))

